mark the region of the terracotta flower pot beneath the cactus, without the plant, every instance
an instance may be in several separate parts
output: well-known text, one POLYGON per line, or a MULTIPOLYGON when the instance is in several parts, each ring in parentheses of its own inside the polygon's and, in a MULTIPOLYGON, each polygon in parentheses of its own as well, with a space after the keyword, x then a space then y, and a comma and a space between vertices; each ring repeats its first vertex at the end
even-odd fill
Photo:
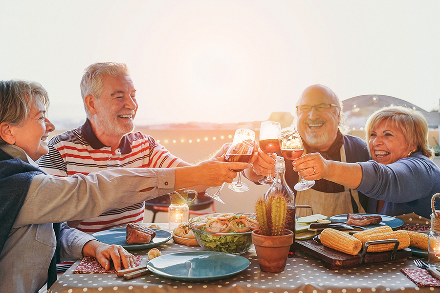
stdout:
POLYGON ((252 243, 257 252, 260 269, 264 272, 284 271, 290 245, 293 243, 293 232, 285 230, 286 235, 283 236, 265 236, 260 235, 260 231, 252 231, 252 243))

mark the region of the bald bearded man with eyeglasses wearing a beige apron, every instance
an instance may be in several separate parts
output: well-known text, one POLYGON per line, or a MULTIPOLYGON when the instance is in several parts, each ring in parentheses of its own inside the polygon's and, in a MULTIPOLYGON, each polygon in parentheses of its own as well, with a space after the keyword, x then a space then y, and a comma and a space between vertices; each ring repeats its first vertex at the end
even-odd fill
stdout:
MULTIPOLYGON (((365 141, 342 134, 348 128, 344 120, 342 103, 330 88, 321 84, 308 86, 296 104, 296 125, 303 139, 304 154, 319 152, 328 160, 349 163, 370 160, 365 141)), ((294 190, 301 178, 291 163, 286 160, 286 181, 294 190)), ((314 213, 327 216, 364 213, 368 201, 362 193, 324 179, 317 180, 310 189, 294 192, 296 205, 310 205, 314 213)), ((305 214, 304 209, 296 213, 305 214)))

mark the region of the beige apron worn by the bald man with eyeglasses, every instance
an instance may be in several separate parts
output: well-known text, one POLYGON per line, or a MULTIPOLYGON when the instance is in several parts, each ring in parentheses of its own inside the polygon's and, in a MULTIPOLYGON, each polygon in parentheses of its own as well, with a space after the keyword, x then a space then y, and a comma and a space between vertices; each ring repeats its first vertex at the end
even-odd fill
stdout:
MULTIPOLYGON (((344 145, 341 147, 341 162, 347 163, 344 145)), ((299 181, 301 181, 301 177, 299 177, 298 182, 299 181)), ((309 205, 312 207, 314 214, 319 213, 330 217, 353 213, 352 198, 356 202, 358 212, 365 213, 365 209, 362 208, 359 202, 357 190, 352 190, 348 187, 344 187, 343 192, 337 193, 326 193, 316 191, 312 188, 298 191, 296 193, 295 204, 309 205)), ((308 214, 308 209, 296 209, 296 216, 298 217, 308 216, 308 214)))

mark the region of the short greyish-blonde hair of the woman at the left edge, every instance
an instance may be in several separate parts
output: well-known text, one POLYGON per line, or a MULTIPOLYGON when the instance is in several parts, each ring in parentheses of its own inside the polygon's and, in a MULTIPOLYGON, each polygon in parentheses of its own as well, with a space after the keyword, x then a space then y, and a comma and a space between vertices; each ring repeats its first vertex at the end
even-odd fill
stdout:
MULTIPOLYGON (((47 111, 49 94, 41 84, 25 80, 0 81, 0 123, 22 125, 35 99, 40 99, 47 111)), ((0 142, 4 143, 1 138, 0 142)))

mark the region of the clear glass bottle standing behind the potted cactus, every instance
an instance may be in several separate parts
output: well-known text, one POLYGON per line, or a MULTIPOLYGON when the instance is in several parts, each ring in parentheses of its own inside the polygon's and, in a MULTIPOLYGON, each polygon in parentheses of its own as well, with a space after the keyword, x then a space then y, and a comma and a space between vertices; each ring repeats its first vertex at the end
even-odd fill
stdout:
MULTIPOLYGON (((280 192, 283 194, 287 202, 286 229, 291 230, 295 236, 295 193, 293 193, 292 189, 287 185, 285 173, 286 163, 284 162, 284 158, 277 156, 275 162, 275 180, 264 194, 264 200, 267 200, 272 193, 280 192)), ((295 237, 293 237, 293 244, 290 246, 291 252, 295 252, 294 245, 295 237)))

